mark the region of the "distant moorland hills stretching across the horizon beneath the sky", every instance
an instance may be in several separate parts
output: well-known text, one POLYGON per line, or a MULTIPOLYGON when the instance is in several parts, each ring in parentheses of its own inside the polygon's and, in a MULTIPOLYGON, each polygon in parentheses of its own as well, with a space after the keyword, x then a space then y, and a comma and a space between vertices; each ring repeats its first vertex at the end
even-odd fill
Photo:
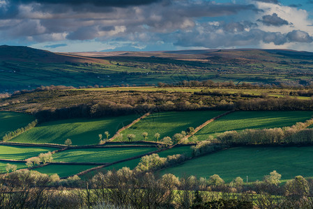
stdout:
POLYGON ((312 70, 312 52, 288 49, 54 53, 0 46, 0 92, 42 85, 155 85, 208 79, 310 85, 312 70))

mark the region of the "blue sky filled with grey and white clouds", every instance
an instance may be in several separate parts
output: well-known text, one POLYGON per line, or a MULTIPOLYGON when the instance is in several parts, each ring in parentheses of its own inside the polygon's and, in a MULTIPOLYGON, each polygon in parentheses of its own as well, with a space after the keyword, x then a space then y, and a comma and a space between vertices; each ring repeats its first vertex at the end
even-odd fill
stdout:
POLYGON ((0 45, 313 51, 313 0, 0 0, 0 45))

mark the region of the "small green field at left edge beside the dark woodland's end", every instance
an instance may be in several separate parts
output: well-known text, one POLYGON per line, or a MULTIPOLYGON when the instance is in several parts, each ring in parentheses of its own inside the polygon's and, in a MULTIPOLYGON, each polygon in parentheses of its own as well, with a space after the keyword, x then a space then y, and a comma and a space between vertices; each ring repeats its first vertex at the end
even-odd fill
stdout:
POLYGON ((0 139, 2 139, 7 132, 17 130, 20 127, 25 127, 34 120, 35 118, 29 114, 13 111, 0 111, 0 139))

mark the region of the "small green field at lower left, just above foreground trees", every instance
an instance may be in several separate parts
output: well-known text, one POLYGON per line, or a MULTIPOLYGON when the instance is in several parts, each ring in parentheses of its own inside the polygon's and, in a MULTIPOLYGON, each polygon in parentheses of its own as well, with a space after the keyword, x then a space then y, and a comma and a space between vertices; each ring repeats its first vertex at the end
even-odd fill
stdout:
POLYGON ((33 171, 38 171, 40 173, 46 173, 48 175, 52 175, 54 173, 58 174, 61 178, 68 177, 85 171, 87 169, 91 169, 96 166, 90 165, 63 165, 63 164, 49 164, 45 167, 41 167, 38 169, 33 169, 33 171))

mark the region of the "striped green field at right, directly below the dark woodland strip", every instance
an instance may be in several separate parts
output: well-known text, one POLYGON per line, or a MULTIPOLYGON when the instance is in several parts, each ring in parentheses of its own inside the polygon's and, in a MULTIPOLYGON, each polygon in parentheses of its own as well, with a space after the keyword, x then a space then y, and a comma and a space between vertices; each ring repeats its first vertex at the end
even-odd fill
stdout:
POLYGON ((235 111, 206 125, 195 134, 199 140, 229 130, 285 127, 312 118, 313 111, 235 111))

